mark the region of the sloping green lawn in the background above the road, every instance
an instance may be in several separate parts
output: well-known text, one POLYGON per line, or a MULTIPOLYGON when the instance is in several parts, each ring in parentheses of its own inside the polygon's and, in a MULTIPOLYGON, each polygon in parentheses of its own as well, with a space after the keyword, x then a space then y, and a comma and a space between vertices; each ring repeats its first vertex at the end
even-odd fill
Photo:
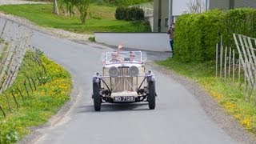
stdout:
POLYGON ((93 4, 86 24, 81 24, 78 15, 74 17, 53 14, 53 5, 10 5, 0 6, 6 14, 26 18, 39 26, 47 26, 62 30, 69 30, 80 34, 100 32, 150 32, 150 26, 145 22, 118 21, 114 18, 116 7, 93 4))

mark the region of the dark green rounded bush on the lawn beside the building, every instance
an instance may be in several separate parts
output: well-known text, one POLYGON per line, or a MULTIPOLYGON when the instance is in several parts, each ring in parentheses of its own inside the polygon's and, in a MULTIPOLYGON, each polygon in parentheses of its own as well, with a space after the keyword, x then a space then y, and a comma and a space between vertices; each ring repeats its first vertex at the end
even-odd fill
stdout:
POLYGON ((114 14, 118 20, 144 20, 144 10, 138 7, 118 7, 114 14))

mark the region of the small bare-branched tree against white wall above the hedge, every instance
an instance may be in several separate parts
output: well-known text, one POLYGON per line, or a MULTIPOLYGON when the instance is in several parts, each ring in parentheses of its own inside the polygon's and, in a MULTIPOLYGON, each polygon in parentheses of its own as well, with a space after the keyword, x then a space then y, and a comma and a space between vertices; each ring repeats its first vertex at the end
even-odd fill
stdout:
POLYGON ((201 14, 204 2, 202 0, 190 0, 187 6, 189 7, 190 13, 201 14))

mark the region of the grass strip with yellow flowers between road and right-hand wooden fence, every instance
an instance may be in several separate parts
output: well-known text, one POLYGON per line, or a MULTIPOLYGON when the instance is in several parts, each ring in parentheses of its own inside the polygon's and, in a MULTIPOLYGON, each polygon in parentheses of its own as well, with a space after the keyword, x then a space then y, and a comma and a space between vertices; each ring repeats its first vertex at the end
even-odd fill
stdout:
MULTIPOLYGON (((214 62, 181 63, 168 58, 156 63, 198 82, 228 114, 233 115, 246 130, 256 136, 254 98, 246 102, 243 98, 243 86, 239 88, 237 83, 228 85, 228 82, 215 78, 214 62)), ((227 81, 231 83, 230 79, 227 81)))

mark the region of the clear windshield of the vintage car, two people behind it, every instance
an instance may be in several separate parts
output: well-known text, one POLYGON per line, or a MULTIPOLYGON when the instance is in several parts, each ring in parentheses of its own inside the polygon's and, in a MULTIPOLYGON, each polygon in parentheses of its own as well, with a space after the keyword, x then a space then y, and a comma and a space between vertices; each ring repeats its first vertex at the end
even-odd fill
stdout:
POLYGON ((106 64, 113 63, 142 63, 141 51, 106 52, 106 64))

